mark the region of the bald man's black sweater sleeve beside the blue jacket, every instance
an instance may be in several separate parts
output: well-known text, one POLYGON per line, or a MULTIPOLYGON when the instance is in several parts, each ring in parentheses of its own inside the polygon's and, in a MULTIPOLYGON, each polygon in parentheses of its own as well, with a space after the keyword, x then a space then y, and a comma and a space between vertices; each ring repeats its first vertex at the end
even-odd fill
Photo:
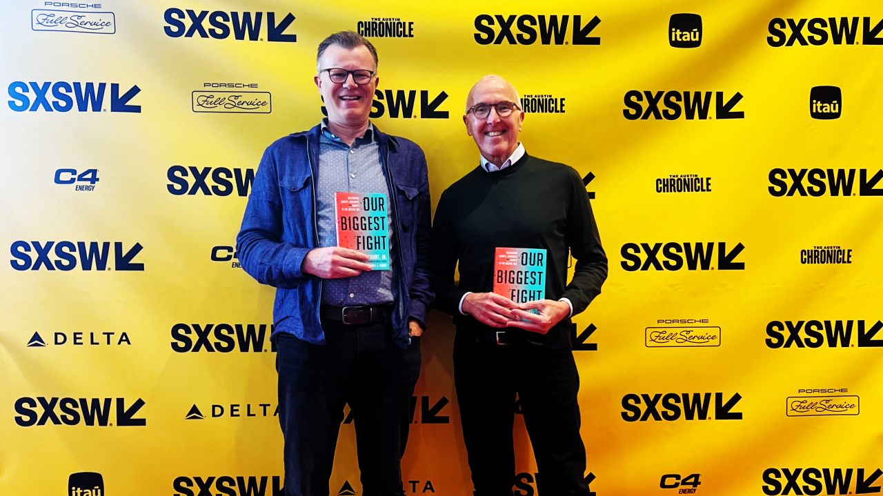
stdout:
POLYGON ((432 280, 435 307, 451 315, 459 314, 460 299, 466 291, 454 283, 459 248, 450 224, 450 212, 445 193, 435 209, 432 231, 432 280))

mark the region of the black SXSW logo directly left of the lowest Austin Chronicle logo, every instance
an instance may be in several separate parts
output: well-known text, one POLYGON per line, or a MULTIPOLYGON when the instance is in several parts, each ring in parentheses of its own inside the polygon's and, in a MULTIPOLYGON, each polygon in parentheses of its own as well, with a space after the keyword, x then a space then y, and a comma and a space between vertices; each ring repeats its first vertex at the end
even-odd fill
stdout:
MULTIPOLYGON (((744 245, 739 243, 729 252, 727 251, 727 243, 721 242, 717 244, 718 270, 745 270, 744 262, 736 262, 736 257, 744 250, 744 245)), ((651 246, 649 243, 626 243, 620 251, 623 261, 620 265, 629 272, 638 270, 714 270, 712 267, 712 257, 714 254, 714 243, 656 243, 651 246), (644 253, 646 259, 641 260, 641 253, 644 253), (664 258, 660 261, 660 258, 664 258)))

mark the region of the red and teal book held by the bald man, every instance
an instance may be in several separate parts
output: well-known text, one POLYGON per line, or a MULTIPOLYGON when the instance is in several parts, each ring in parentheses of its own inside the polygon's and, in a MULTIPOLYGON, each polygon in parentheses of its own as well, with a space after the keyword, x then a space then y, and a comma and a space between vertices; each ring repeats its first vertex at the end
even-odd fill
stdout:
POLYGON ((545 298, 546 250, 497 248, 494 252, 494 293, 517 304, 545 298))

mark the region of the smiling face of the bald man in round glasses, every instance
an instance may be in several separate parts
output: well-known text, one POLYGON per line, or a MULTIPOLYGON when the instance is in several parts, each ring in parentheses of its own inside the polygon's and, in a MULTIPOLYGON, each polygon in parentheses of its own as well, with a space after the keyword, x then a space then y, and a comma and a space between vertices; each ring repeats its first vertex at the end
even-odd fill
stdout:
MULTIPOLYGON (((472 86, 469 98, 466 101, 466 110, 479 103, 495 104, 501 101, 509 101, 518 104, 518 94, 515 88, 505 79, 488 76, 479 80, 472 86)), ((474 112, 463 116, 466 124, 466 132, 475 139, 481 154, 490 162, 505 162, 518 147, 518 132, 525 120, 525 114, 521 110, 513 109, 509 116, 497 115, 495 109, 484 119, 479 119, 474 112)), ((500 165, 497 164, 497 165, 500 165)))

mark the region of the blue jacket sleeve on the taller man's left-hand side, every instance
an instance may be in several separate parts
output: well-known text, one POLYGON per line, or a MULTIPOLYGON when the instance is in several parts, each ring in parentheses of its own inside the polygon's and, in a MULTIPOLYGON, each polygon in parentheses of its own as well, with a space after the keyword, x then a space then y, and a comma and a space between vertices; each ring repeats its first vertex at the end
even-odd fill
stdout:
POLYGON ((248 197, 242 228, 236 237, 239 262, 245 272, 261 284, 292 289, 310 274, 300 266, 311 248, 283 242, 283 206, 273 147, 260 159, 248 197))

